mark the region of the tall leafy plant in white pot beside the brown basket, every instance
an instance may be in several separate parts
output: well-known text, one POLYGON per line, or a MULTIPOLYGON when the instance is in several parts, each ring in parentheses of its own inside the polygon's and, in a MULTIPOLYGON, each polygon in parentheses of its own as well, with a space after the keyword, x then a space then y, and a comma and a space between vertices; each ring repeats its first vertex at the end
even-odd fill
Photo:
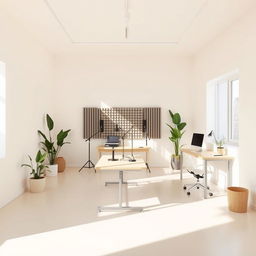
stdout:
MULTIPOLYGON (((59 155, 59 152, 62 146, 64 144, 69 144, 69 142, 65 142, 65 139, 71 130, 66 130, 66 131, 61 130, 57 134, 57 138, 56 138, 57 141, 55 143, 55 141, 52 138, 52 130, 54 128, 54 122, 48 114, 46 115, 46 123, 47 123, 49 137, 47 138, 47 136, 40 130, 38 130, 38 134, 43 138, 43 141, 41 141, 41 145, 42 145, 42 149, 47 153, 49 170, 50 170, 49 175, 56 176, 58 173, 58 165, 56 164, 56 159, 59 155)), ((65 161, 64 158, 62 159, 63 161, 65 161)))

